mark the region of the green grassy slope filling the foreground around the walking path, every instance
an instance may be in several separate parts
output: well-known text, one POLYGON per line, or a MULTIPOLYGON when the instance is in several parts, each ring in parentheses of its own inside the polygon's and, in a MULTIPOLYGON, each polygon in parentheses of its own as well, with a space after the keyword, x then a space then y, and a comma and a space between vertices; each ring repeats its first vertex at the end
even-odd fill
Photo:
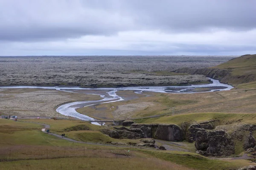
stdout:
MULTIPOLYGON (((209 117, 208 115, 207 118, 209 117)), ((82 124, 75 120, 33 119, 33 121, 50 124, 53 131, 65 128, 70 130, 69 127, 82 124)), ((176 119, 172 121, 176 121, 176 119)), ((0 158, 3 160, 3 162, 0 162, 1 170, 47 170, 49 168, 56 170, 65 168, 108 170, 110 168, 108 165, 111 165, 112 168, 113 166, 119 166, 119 169, 128 170, 143 170, 143 168, 153 168, 156 170, 170 168, 174 170, 216 170, 216 167, 219 170, 231 170, 235 167, 238 168, 252 164, 250 161, 245 160, 212 160, 196 153, 142 150, 130 147, 118 148, 68 142, 43 133, 41 132, 41 125, 28 122, 0 119, 0 127, 0 135, 3 137, 1 139, 4 139, 0 140, 0 158), (130 150, 130 157, 123 154, 127 153, 127 150, 130 150), (5 160, 11 162, 5 162, 5 160)), ((93 127, 94 125, 91 125, 90 128, 93 129, 93 127)), ((96 130, 98 128, 87 131, 87 136, 89 136, 89 133, 98 133, 96 130)), ((77 130, 70 132, 74 134, 79 133, 77 130)), ((93 137, 95 138, 96 136, 93 135, 93 137)))

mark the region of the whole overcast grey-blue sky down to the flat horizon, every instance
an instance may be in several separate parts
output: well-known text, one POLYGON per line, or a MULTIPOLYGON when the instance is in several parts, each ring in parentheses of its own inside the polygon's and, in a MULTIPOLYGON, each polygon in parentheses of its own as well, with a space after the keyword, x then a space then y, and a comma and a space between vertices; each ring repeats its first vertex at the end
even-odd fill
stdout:
POLYGON ((256 54, 256 0, 0 0, 0 56, 256 54))

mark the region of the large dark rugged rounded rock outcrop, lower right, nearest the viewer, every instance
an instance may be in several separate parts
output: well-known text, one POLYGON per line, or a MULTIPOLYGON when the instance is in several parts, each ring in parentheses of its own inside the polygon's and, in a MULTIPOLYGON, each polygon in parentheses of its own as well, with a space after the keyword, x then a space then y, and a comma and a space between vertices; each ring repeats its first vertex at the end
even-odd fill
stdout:
POLYGON ((235 153, 231 136, 224 130, 198 129, 195 136, 197 153, 204 156, 230 156, 235 153))

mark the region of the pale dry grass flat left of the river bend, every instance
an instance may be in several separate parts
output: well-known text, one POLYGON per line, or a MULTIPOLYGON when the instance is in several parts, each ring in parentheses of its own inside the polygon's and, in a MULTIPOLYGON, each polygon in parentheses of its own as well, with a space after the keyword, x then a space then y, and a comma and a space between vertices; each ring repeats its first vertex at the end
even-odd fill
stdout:
POLYGON ((64 102, 101 99, 98 95, 74 94, 47 89, 2 89, 0 111, 11 115, 61 116, 55 107, 64 102))

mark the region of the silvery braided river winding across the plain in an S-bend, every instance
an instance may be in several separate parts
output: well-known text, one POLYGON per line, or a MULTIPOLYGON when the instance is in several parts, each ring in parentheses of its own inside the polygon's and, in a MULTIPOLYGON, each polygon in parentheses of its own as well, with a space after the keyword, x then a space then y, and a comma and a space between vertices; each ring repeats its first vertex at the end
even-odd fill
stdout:
MULTIPOLYGON (((124 88, 80 88, 80 87, 60 87, 60 86, 1 86, 0 88, 43 88, 43 89, 56 89, 58 91, 66 91, 70 93, 78 93, 70 90, 108 90, 108 96, 102 94, 93 94, 100 95, 102 99, 93 100, 93 101, 84 101, 84 102, 70 102, 64 105, 59 106, 56 111, 65 116, 76 117, 81 120, 92 120, 90 116, 83 115, 76 111, 77 108, 87 107, 90 105, 96 105, 100 103, 109 103, 109 102, 118 102, 124 100, 121 96, 116 94, 116 91, 120 90, 131 90, 137 94, 143 94, 144 91, 158 92, 158 93, 204 93, 204 92, 213 92, 213 91, 227 91, 232 89, 231 85, 220 83, 218 80, 210 79, 212 81, 211 84, 206 85, 187 85, 187 86, 145 86, 145 87, 124 87, 124 88), (207 88, 207 91, 201 91, 200 89, 207 88), (199 89, 199 91, 196 91, 199 89)), ((88 93, 90 94, 90 93, 88 93)), ((93 124, 99 125, 97 122, 93 122, 93 124)))

